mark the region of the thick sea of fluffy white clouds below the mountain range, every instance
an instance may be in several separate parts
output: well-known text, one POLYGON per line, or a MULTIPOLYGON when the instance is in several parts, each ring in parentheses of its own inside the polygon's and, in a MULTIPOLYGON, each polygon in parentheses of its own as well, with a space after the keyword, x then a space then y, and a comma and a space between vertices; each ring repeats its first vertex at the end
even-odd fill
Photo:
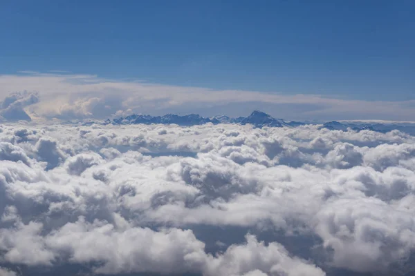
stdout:
POLYGON ((414 268, 415 137, 402 132, 0 129, 1 273, 82 266, 109 275, 403 275, 414 268))

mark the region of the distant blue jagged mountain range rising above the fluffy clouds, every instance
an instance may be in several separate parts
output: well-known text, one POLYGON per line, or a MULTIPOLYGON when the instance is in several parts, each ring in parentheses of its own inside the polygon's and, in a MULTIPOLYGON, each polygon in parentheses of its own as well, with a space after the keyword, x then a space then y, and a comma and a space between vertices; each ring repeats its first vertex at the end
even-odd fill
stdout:
MULTIPOLYGON (((201 117, 197 114, 190 115, 174 115, 167 114, 164 116, 151 116, 151 115, 129 115, 126 117, 120 117, 118 119, 107 119, 104 124, 112 125, 130 125, 130 124, 177 124, 179 126, 195 126, 202 124, 239 124, 246 125, 251 124, 256 128, 277 127, 277 128, 294 128, 297 126, 303 126, 306 124, 316 124, 310 121, 284 121, 284 119, 276 119, 265 112, 259 110, 253 111, 248 117, 232 118, 225 115, 218 115, 214 117, 201 117)), ((326 128, 329 130, 343 130, 343 131, 361 131, 361 130, 373 130, 377 132, 389 132, 391 130, 400 130, 406 132, 409 135, 415 135, 415 123, 403 123, 403 122, 385 122, 371 123, 365 121, 329 121, 321 125, 320 128, 326 128)))

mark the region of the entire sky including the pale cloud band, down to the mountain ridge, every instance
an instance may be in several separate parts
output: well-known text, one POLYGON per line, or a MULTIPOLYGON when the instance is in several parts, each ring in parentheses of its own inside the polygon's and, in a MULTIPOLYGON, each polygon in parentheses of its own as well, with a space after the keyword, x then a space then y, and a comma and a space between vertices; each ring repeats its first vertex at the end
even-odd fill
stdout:
POLYGON ((35 92, 33 116, 65 118, 415 120, 414 14, 412 0, 3 0, 0 100, 35 92))

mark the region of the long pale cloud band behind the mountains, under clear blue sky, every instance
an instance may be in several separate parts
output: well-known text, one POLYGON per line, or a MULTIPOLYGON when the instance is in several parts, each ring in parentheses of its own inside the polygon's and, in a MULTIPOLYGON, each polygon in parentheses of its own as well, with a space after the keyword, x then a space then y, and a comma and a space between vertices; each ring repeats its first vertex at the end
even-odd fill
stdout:
MULTIPOLYGON (((26 96, 30 95, 26 92, 26 96)), ((333 91, 335 95, 335 91, 333 91)), ((168 86, 140 81, 102 79, 94 75, 42 74, 0 75, 0 115, 8 119, 107 119, 125 112, 164 115, 169 112, 203 116, 246 116, 260 109, 286 119, 394 119, 415 121, 414 101, 360 101, 319 95, 241 90, 212 90, 168 86), (35 91, 26 100, 16 93, 35 91), (11 94, 11 96, 10 96, 11 94), (20 103, 21 102, 21 103, 20 103), (6 104, 7 105, 7 104, 6 104), (8 110, 6 110, 8 108, 8 110), (24 111, 22 110, 24 109, 24 111), (126 111, 127 110, 127 111, 126 111), (275 111, 278 110, 278 111, 275 111)))

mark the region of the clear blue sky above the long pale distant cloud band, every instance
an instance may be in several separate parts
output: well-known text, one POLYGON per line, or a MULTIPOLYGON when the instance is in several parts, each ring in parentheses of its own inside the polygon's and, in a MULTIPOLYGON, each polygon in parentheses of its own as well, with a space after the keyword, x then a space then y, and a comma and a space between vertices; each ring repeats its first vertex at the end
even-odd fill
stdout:
MULTIPOLYGON (((405 0, 5 0, 0 3, 0 75, 88 75, 223 93, 414 101, 414 12, 415 2, 405 0)), ((21 88, 3 86, 3 98, 21 88)), ((33 89, 27 84, 24 90, 33 89)), ((247 108, 267 109, 262 103, 247 108)), ((227 108, 205 113, 216 110, 227 108)), ((288 111, 275 115, 298 113, 288 111)), ((300 117, 308 116, 358 119, 330 112, 300 117)), ((387 113, 360 117, 415 119, 387 113)))

